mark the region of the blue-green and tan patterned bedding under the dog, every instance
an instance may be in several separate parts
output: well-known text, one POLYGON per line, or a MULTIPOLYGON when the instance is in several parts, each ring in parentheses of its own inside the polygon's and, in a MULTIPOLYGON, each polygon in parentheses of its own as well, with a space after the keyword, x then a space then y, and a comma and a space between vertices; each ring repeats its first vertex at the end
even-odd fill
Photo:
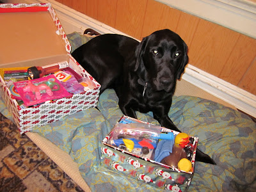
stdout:
MULTIPOLYGON (((80 37, 73 34, 69 38, 71 44, 76 44, 80 37)), ((78 42, 81 44, 81 40, 78 42)), ((3 104, 0 106, 4 114, 6 109, 3 104)), ((99 97, 97 109, 36 127, 33 132, 67 152, 92 191, 160 191, 100 164, 101 142, 122 115, 115 91, 106 90, 99 97)), ((182 132, 198 137, 198 148, 217 164, 196 162, 189 191, 255 191, 256 124, 251 118, 211 100, 191 96, 173 97, 168 115, 182 132)), ((152 113, 137 116, 159 125, 152 113)))

